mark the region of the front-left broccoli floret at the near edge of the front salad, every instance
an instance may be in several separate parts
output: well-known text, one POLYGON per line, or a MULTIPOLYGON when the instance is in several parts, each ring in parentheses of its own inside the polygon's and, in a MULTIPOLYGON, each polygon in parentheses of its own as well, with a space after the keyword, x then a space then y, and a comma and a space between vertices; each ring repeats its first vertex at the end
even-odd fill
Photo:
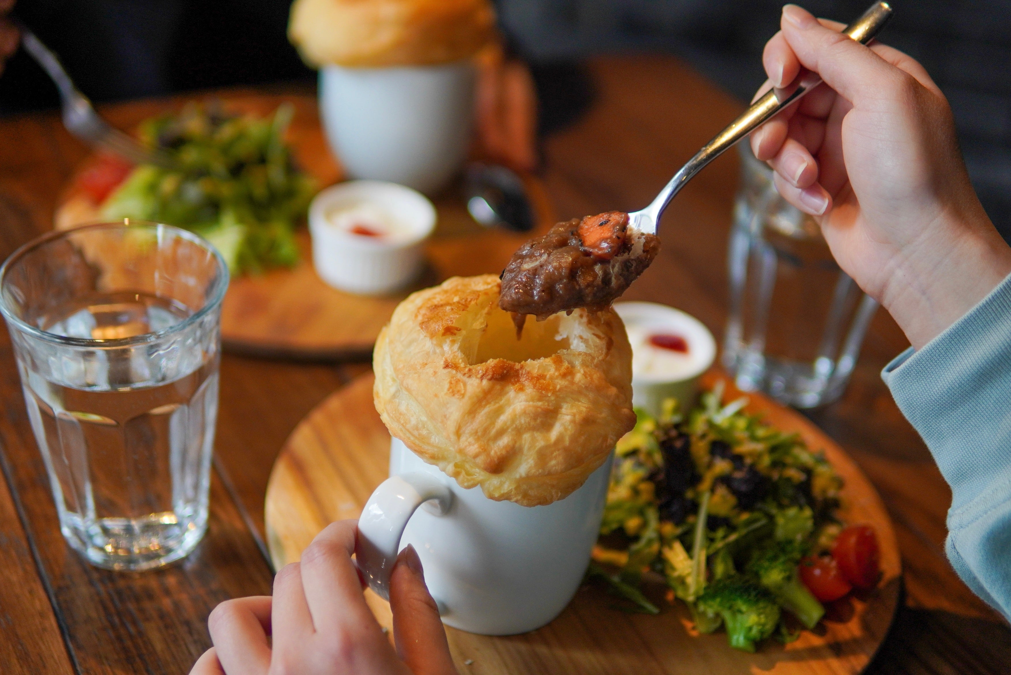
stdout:
POLYGON ((742 576, 720 579, 706 589, 697 604, 698 613, 719 614, 727 626, 730 646, 745 652, 754 652, 755 643, 772 635, 779 622, 779 605, 772 594, 742 576))

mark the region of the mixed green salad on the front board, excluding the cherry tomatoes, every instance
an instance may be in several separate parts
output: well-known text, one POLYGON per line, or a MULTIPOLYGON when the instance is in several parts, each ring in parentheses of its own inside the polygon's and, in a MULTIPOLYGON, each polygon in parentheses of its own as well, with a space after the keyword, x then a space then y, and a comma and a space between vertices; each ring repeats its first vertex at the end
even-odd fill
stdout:
POLYGON ((636 410, 618 443, 589 576, 657 613, 641 588, 658 573, 701 633, 723 625, 731 646, 754 651, 769 636, 799 635, 783 610, 808 629, 824 614, 801 563, 833 548, 842 480, 796 433, 745 413, 747 399, 722 396, 721 383, 687 414, 672 399, 659 418, 636 410))

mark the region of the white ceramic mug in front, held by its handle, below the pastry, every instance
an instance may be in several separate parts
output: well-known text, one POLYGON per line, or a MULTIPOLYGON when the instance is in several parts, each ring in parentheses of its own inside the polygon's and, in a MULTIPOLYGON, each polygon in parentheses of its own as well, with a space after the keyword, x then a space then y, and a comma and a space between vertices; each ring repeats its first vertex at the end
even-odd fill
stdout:
POLYGON ((579 587, 601 528, 611 462, 564 499, 528 507, 460 487, 393 439, 390 478, 358 520, 358 567, 388 599, 396 554, 410 544, 448 625, 495 636, 533 631, 557 616, 579 587))

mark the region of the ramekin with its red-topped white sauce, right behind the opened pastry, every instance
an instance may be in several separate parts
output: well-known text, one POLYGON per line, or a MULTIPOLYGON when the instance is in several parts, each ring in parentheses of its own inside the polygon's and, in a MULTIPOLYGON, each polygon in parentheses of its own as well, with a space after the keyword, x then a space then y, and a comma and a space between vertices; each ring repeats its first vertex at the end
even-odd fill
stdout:
POLYGON ((713 333, 697 318, 655 302, 618 302, 632 345, 632 402, 659 414, 665 398, 695 404, 699 377, 716 358, 713 333))

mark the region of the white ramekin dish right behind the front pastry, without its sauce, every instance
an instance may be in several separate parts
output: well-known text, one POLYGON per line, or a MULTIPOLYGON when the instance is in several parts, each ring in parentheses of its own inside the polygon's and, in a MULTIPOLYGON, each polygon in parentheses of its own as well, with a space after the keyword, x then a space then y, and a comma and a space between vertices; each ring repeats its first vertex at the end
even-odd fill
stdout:
MULTIPOLYGON (((656 302, 618 302, 615 311, 628 325, 647 325, 650 332, 669 331, 684 338, 692 364, 679 377, 637 373, 632 370, 632 404, 652 415, 660 413, 664 399, 676 398, 682 411, 691 409, 699 394, 699 378, 716 360, 716 340, 695 316, 656 302)), ((635 345, 632 346, 633 355, 635 345)))

